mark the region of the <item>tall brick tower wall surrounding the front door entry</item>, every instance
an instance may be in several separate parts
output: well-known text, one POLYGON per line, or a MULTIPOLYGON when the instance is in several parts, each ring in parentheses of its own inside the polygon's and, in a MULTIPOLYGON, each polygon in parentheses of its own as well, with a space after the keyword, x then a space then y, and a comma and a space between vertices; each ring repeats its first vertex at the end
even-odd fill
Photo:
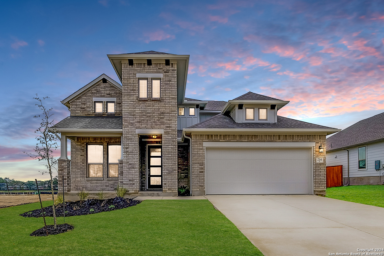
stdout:
POLYGON ((163 192, 177 192, 177 72, 176 63, 122 63, 123 170, 122 184, 138 192, 139 136, 136 129, 164 129, 162 136, 163 192), (136 73, 162 73, 161 100, 139 100, 136 73))

